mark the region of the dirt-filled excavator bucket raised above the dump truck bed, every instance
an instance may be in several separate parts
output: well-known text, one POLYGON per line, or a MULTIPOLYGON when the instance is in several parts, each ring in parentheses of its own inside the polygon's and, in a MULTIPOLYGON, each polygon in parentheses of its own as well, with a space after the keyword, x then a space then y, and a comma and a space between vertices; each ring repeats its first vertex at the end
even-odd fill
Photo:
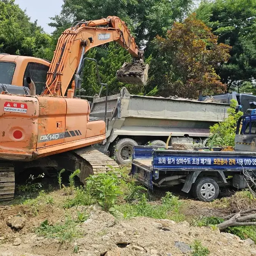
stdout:
POLYGON ((148 80, 149 65, 140 63, 124 63, 121 69, 116 72, 118 81, 134 85, 146 85, 148 80))

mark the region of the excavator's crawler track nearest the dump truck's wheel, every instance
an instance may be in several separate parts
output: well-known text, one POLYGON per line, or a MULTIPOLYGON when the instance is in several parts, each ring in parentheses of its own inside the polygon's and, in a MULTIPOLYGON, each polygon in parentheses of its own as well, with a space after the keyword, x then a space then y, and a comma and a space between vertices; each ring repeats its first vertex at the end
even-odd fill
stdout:
POLYGON ((105 173, 112 170, 113 168, 118 168, 118 163, 112 158, 93 148, 82 148, 74 150, 76 154, 88 161, 93 167, 93 173, 105 173))

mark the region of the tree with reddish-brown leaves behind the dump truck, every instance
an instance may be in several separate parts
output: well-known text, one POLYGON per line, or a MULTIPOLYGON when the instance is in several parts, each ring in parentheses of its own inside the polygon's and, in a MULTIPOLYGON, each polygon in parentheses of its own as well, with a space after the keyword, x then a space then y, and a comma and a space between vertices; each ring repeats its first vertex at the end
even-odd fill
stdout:
POLYGON ((198 97, 199 93, 221 93, 214 67, 228 60, 229 46, 192 14, 184 23, 174 22, 166 38, 158 36, 151 61, 151 86, 158 85, 161 96, 198 97), (161 79, 159 79, 161 78, 161 79))

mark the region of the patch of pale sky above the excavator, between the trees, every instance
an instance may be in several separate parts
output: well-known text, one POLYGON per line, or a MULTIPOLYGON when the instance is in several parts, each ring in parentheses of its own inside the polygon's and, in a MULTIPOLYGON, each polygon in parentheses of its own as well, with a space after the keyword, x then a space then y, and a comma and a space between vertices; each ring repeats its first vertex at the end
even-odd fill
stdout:
POLYGON ((49 27, 50 17, 59 14, 63 0, 15 0, 21 9, 27 9, 27 15, 31 22, 38 20, 38 25, 44 28, 47 33, 53 32, 54 28, 49 27))

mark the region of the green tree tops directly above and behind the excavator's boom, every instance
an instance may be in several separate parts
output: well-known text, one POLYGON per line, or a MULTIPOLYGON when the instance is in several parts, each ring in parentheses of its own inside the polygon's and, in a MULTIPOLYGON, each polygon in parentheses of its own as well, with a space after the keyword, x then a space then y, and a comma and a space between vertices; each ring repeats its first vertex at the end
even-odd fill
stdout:
MULTIPOLYGON (((156 35, 165 35, 174 20, 182 20, 192 0, 65 0, 61 13, 52 18, 57 38, 76 20, 118 16, 131 29, 139 46, 148 46, 156 35)), ((148 55, 150 53, 148 52, 148 55)))

